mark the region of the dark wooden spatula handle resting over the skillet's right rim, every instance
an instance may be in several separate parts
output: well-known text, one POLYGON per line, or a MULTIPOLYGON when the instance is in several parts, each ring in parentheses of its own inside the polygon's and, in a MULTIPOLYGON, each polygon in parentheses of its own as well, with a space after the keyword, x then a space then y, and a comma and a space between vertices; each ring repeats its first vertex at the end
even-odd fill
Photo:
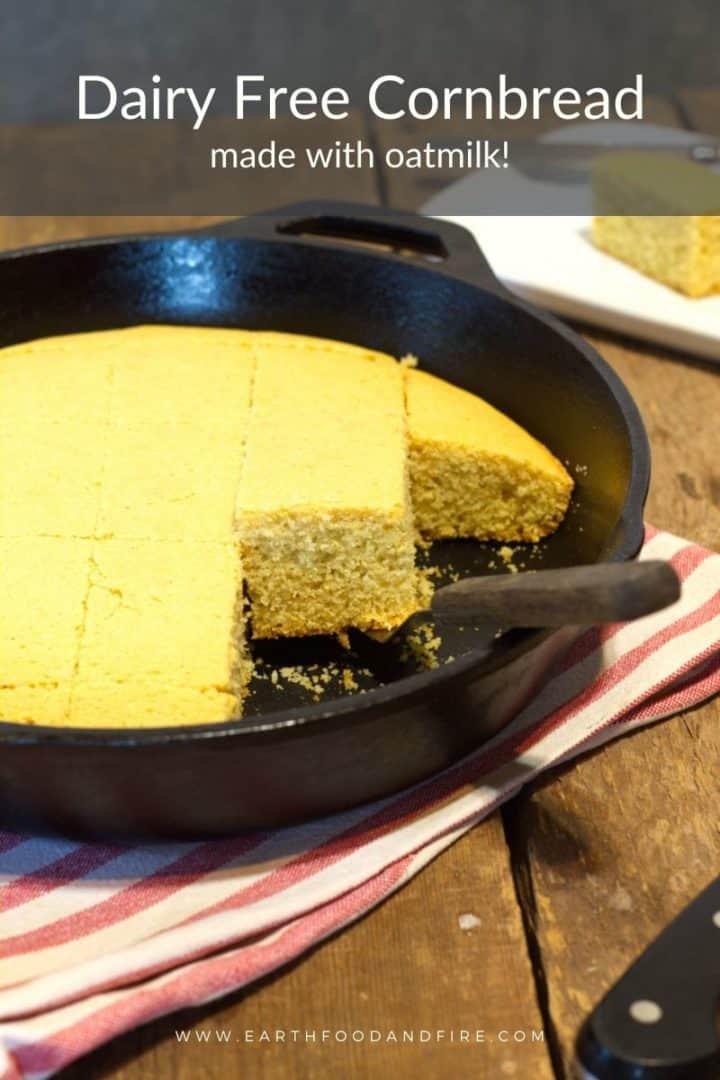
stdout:
POLYGON ((438 589, 432 610, 488 619, 502 627, 593 626, 658 611, 679 595, 680 581, 669 563, 596 563, 466 578, 438 589))

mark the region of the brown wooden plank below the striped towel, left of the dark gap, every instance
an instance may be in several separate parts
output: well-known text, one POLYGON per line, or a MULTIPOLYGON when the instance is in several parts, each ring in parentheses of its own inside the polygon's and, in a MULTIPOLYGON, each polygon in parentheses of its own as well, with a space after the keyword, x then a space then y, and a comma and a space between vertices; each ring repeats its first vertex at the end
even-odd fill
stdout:
MULTIPOLYGON (((63 1080, 441 1077, 549 1080, 542 1030, 499 815, 432 863, 368 918, 255 991, 150 1024, 63 1072, 63 1080), (479 920, 471 930, 461 915, 479 920), (178 1043, 175 1031, 210 1032, 178 1043), (316 1031, 316 1042, 260 1043, 263 1029, 316 1031), (415 1031, 415 1043, 328 1042, 327 1030, 415 1031), (420 1031, 446 1032, 420 1043, 420 1031), (460 1031, 486 1041, 461 1042, 460 1031), (215 1032, 230 1031, 229 1043, 215 1032), (254 1031, 252 1043, 237 1043, 254 1031), (450 1032, 456 1041, 450 1041, 450 1032), (525 1041, 501 1041, 521 1031, 525 1041)), ((369 1036, 367 1036, 369 1038, 369 1036)), ((274 1035, 273 1035, 274 1038, 274 1035)), ((287 1037, 290 1038, 289 1036, 287 1037)), ((514 1035, 512 1036, 514 1038, 514 1035)))

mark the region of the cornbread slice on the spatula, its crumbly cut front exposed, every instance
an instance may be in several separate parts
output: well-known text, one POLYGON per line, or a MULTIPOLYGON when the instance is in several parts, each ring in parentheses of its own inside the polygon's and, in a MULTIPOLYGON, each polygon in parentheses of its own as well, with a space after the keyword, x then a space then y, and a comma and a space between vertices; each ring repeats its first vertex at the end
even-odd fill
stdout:
POLYGON ((255 637, 383 630, 415 610, 399 365, 266 338, 236 530, 255 637))

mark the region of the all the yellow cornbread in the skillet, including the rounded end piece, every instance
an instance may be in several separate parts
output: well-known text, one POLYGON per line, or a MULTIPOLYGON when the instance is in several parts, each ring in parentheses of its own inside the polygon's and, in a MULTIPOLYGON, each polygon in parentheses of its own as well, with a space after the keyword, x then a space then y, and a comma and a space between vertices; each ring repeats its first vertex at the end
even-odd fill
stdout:
POLYGON ((429 536, 551 531, 565 470, 429 380, 356 347, 240 330, 0 351, 0 716, 236 715, 244 582, 256 636, 391 627, 421 604, 410 488, 429 536))

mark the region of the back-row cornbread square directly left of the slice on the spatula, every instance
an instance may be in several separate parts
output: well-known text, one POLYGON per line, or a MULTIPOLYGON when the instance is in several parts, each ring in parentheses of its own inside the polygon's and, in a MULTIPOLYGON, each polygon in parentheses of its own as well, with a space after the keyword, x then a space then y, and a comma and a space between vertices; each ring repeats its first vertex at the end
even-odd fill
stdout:
POLYGON ((112 367, 98 536, 232 537, 254 354, 240 330, 125 330, 112 367))

